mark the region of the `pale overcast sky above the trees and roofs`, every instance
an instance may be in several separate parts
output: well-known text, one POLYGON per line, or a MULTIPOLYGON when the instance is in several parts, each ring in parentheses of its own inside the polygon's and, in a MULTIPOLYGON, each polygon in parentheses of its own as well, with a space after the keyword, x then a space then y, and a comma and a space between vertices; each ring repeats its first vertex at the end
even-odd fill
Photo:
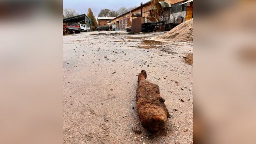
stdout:
POLYGON ((141 2, 149 0, 63 0, 63 8, 73 8, 79 14, 87 15, 88 8, 92 9, 95 17, 98 17, 101 9, 118 10, 120 7, 140 6, 141 2))

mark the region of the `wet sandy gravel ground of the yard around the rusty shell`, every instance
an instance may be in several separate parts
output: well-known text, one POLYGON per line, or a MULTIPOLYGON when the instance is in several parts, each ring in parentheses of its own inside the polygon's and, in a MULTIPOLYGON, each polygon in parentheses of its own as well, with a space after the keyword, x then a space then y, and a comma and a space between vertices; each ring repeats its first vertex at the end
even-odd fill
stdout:
POLYGON ((100 33, 63 36, 63 144, 193 144, 193 66, 185 62, 193 43, 142 41, 163 33, 100 33), (142 128, 136 109, 142 69, 171 114, 155 134, 142 128))

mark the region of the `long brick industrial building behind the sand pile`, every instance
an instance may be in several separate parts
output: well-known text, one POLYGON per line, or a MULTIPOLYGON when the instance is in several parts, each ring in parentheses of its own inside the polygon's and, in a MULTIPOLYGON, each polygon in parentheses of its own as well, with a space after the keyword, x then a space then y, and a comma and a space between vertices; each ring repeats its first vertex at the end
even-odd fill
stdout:
POLYGON ((115 17, 110 23, 116 24, 116 30, 125 30, 137 17, 142 18, 142 23, 159 22, 159 30, 170 30, 173 25, 193 18, 193 0, 162 0, 156 3, 148 1, 115 17))

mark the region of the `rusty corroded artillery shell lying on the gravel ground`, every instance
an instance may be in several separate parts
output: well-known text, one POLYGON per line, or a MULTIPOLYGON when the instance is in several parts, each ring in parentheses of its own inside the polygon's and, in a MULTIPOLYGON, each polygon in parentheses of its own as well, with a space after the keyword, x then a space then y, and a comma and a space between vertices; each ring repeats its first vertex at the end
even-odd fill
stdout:
POLYGON ((138 76, 137 110, 142 126, 151 132, 158 132, 164 128, 170 114, 165 100, 159 95, 159 86, 148 82, 146 78, 147 73, 142 70, 138 76))

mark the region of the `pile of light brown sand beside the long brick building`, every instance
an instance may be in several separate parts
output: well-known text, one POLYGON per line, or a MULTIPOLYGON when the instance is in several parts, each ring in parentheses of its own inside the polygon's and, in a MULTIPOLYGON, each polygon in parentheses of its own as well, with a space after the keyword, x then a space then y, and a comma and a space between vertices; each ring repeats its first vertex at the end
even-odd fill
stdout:
POLYGON ((157 36, 157 39, 165 39, 171 41, 193 41, 193 19, 177 25, 168 33, 157 36))

